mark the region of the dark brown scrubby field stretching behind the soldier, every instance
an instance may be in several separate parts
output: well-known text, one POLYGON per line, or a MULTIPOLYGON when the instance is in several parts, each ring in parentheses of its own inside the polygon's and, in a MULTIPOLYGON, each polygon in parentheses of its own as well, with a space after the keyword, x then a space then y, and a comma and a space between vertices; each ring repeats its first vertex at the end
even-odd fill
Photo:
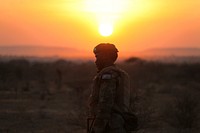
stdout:
MULTIPOLYGON (((137 133, 200 132, 200 63, 130 58, 137 133)), ((93 62, 0 62, 0 133, 85 133, 93 62)))

